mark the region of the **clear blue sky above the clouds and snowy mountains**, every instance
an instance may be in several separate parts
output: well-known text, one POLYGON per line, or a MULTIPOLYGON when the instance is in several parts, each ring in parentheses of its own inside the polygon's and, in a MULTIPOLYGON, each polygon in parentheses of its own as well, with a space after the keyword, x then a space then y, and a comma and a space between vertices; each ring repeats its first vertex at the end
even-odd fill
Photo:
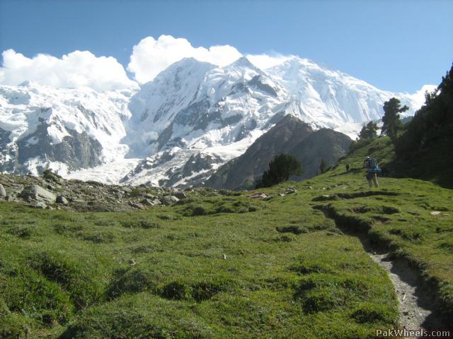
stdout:
MULTIPOLYGON (((0 0, 0 52, 74 50, 127 68, 144 37, 296 54, 391 91, 438 84, 453 62, 453 1, 0 0)), ((129 77, 133 76, 129 73, 129 77)))

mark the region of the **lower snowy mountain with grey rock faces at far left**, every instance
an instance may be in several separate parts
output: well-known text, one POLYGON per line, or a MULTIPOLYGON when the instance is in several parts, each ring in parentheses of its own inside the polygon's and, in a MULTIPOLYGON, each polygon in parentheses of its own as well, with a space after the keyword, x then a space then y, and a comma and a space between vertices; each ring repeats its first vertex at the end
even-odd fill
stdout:
POLYGON ((0 170, 60 174, 124 157, 132 91, 98 93, 25 82, 0 86, 0 170))

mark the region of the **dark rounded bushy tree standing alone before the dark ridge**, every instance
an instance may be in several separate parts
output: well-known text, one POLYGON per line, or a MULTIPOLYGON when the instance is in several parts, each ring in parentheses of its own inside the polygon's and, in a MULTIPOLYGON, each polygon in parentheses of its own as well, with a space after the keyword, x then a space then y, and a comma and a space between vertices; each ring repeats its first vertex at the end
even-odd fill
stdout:
POLYGON ((263 173, 263 177, 256 183, 256 189, 285 182, 291 175, 302 175, 300 162, 293 155, 276 155, 269 162, 269 169, 263 173))

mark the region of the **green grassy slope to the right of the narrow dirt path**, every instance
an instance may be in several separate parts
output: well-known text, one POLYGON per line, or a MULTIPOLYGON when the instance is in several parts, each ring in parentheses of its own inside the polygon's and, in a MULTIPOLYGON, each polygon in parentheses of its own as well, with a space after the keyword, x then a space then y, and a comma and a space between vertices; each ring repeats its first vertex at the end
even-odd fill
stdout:
MULTIPOLYGON (((357 150, 341 160, 335 169, 327 172, 326 182, 341 185, 329 190, 333 198, 344 193, 365 190, 365 172, 360 169, 366 155, 377 157, 384 166, 390 164, 395 170, 393 147, 388 138, 379 138, 369 146, 357 150), (345 173, 345 165, 352 167, 345 173), (358 178, 357 178, 358 177, 358 178), (348 186, 343 186, 343 184, 348 186), (355 189, 350 188, 356 185, 355 189), (345 189, 345 187, 347 187, 345 189), (346 192, 345 192, 346 191, 346 192)), ((438 159, 437 159, 438 160, 438 159)), ((430 162, 429 158, 411 160, 406 172, 424 174, 442 186, 448 186, 445 175, 436 175, 442 162, 430 162), (428 175, 425 169, 432 167, 428 175), (417 169, 420 168, 420 169, 417 169)), ((403 164, 397 163, 403 169, 403 164)), ((319 178, 321 179, 321 178, 319 178)), ((328 207, 338 216, 362 227, 376 242, 384 244, 396 256, 408 259, 424 275, 425 280, 435 286, 442 307, 449 316, 453 315, 453 191, 437 184, 418 179, 379 178, 381 187, 373 191, 394 193, 396 196, 369 196, 362 198, 339 198, 328 201, 328 207), (439 215, 431 212, 439 211, 439 215)), ((341 220, 340 220, 341 221, 341 220)))

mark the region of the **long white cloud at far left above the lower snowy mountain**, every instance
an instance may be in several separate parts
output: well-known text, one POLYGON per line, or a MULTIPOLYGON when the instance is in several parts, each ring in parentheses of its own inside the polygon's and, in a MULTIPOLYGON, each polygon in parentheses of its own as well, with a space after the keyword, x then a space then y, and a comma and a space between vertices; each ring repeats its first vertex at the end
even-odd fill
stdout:
POLYGON ((2 53, 0 83, 18 85, 35 81, 56 88, 90 87, 94 90, 117 90, 137 86, 127 78, 123 66, 113 57, 96 57, 88 51, 75 51, 62 59, 47 54, 24 57, 13 49, 2 53))

